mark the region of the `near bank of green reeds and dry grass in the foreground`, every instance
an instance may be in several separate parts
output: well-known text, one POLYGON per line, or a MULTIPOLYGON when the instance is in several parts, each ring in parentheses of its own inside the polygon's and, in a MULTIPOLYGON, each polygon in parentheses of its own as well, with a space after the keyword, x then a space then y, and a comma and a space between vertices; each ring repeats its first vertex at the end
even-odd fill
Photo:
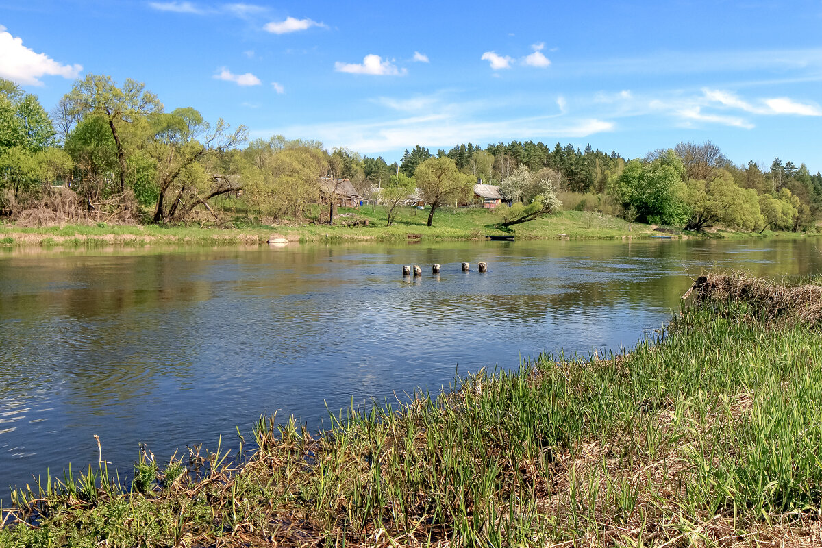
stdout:
POLYGON ((237 465, 44 481, 0 546, 819 546, 822 287, 712 276, 690 298, 624 355, 480 372, 319 435, 261 420, 237 465))

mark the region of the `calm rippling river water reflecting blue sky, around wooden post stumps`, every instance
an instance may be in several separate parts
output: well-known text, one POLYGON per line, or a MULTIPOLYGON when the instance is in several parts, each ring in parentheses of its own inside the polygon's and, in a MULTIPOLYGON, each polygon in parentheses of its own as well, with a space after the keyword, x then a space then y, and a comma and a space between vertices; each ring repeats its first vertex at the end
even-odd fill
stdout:
POLYGON ((47 468, 96 464, 95 435, 127 474, 140 443, 161 460, 219 435, 236 448, 235 427, 261 414, 316 430, 329 410, 436 392, 455 371, 630 348, 689 276, 816 274, 820 243, 0 250, 0 500, 47 468), (422 278, 404 279, 413 264, 422 278))

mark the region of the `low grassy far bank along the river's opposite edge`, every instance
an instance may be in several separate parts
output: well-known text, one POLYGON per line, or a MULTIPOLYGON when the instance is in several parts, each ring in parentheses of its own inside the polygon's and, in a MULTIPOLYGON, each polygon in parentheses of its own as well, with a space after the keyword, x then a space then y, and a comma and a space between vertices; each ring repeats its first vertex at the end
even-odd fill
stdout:
MULTIPOLYGON (((499 222, 492 211, 483 209, 437 210, 434 226, 426 226, 427 212, 404 208, 390 227, 381 206, 361 209, 340 208, 335 225, 261 225, 242 219, 236 228, 168 227, 146 225, 65 225, 43 228, 19 228, 0 224, 0 246, 153 246, 204 245, 232 246, 265 244, 272 234, 289 242, 405 242, 409 239, 432 241, 482 240, 486 234, 505 234, 494 228, 499 222), (368 224, 363 222, 367 220, 368 224), (353 225, 353 226, 351 226, 353 225)), ((647 237, 797 237, 795 233, 740 233, 730 230, 691 233, 674 228, 659 229, 653 225, 588 211, 563 211, 545 219, 536 219, 514 227, 511 234, 520 239, 614 239, 647 237)))

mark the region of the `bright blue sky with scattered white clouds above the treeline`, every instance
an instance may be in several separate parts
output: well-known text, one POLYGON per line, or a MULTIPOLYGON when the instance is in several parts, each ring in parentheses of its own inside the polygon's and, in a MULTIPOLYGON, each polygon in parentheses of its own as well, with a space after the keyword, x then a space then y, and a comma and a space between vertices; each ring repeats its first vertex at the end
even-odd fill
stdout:
POLYGON ((822 170, 822 2, 0 0, 0 76, 77 76, 382 155, 510 140, 627 157, 712 140, 822 170))

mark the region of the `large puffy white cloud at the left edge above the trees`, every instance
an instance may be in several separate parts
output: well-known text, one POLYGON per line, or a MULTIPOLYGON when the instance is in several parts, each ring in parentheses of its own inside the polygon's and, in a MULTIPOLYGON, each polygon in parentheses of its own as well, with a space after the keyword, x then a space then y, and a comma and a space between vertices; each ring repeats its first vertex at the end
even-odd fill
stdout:
POLYGON ((81 65, 62 65, 45 53, 35 53, 2 27, 0 30, 0 78, 21 85, 43 85, 41 76, 62 76, 74 79, 83 70, 81 65))

